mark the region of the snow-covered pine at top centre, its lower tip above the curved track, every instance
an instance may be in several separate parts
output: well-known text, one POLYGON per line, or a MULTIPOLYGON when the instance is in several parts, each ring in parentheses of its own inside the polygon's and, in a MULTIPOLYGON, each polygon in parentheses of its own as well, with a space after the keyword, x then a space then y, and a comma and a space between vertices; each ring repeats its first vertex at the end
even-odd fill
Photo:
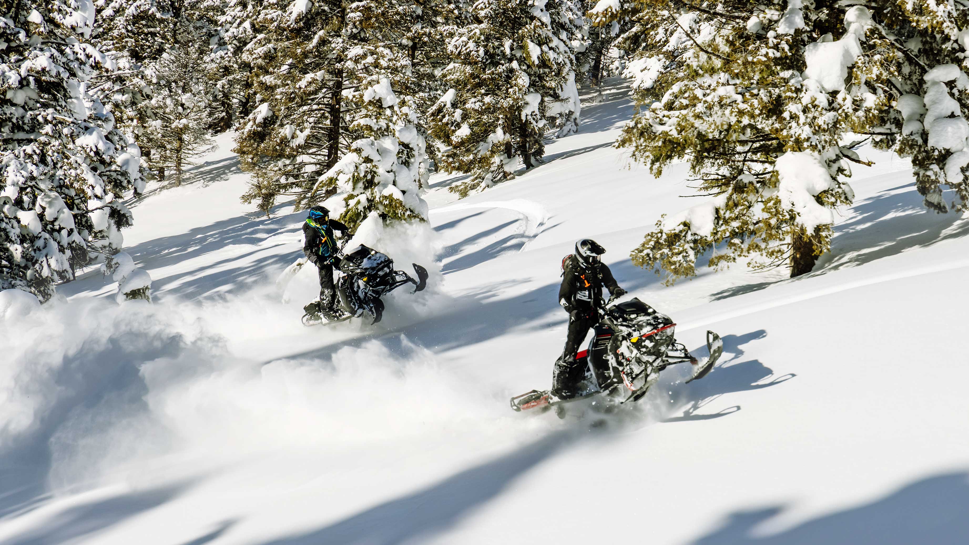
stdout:
POLYGON ((502 181, 518 157, 541 162, 547 116, 560 130, 578 127, 576 51, 585 20, 572 0, 478 0, 473 24, 453 28, 452 63, 441 77, 451 87, 428 113, 431 135, 450 146, 440 166, 473 173, 451 190, 464 196, 502 181))

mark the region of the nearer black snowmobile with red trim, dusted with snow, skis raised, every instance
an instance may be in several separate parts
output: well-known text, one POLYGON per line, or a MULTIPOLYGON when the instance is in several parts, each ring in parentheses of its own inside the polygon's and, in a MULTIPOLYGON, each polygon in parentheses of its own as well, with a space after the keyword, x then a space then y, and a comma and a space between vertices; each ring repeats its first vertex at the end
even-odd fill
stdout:
POLYGON ((723 341, 708 331, 706 347, 710 356, 701 364, 673 337, 676 324, 670 316, 657 312, 639 299, 607 304, 600 311, 600 317, 588 348, 576 354, 576 361, 584 359, 588 364, 585 376, 578 383, 578 395, 558 400, 548 390, 532 390, 512 398, 513 409, 547 409, 551 405, 596 395, 605 396, 607 402, 613 404, 639 401, 659 379, 663 369, 690 362, 696 366, 693 376, 687 380, 691 382, 706 376, 723 353, 723 341))

